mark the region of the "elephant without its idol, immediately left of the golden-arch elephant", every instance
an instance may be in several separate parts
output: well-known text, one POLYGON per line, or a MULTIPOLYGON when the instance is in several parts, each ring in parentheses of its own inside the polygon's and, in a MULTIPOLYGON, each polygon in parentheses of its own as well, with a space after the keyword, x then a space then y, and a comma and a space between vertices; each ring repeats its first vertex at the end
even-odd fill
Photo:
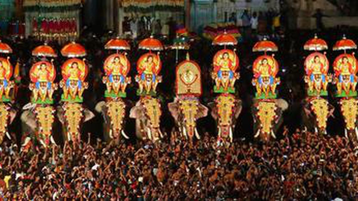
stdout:
POLYGON ((136 119, 136 136, 153 142, 163 137, 160 131, 160 102, 150 96, 142 96, 131 108, 129 117, 136 119))

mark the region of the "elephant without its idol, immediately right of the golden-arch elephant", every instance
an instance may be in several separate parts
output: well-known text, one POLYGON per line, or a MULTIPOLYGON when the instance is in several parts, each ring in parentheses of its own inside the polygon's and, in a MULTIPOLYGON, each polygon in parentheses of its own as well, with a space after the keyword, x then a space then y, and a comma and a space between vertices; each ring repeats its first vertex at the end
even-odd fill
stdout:
POLYGON ((241 100, 231 94, 222 94, 210 105, 211 115, 217 121, 218 138, 232 142, 236 119, 242 109, 241 100))

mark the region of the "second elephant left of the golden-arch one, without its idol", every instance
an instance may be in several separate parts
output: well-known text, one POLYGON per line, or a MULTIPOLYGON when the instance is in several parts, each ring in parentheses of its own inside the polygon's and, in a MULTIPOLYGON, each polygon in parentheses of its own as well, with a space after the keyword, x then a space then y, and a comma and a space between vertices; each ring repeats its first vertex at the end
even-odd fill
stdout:
POLYGON ((101 101, 96 105, 96 111, 103 116, 103 134, 105 141, 115 140, 118 144, 120 136, 129 139, 124 132, 126 103, 122 99, 116 101, 101 101))

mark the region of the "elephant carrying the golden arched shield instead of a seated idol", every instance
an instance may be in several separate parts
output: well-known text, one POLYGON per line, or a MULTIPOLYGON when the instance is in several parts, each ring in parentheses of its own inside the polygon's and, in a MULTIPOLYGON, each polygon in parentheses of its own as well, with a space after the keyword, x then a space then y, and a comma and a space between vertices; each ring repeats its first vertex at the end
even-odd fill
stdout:
POLYGON ((174 102, 168 104, 168 109, 182 139, 192 143, 194 136, 200 139, 196 128, 197 119, 208 114, 208 108, 199 101, 202 94, 200 67, 187 54, 187 59, 176 66, 175 74, 176 97, 174 102))

